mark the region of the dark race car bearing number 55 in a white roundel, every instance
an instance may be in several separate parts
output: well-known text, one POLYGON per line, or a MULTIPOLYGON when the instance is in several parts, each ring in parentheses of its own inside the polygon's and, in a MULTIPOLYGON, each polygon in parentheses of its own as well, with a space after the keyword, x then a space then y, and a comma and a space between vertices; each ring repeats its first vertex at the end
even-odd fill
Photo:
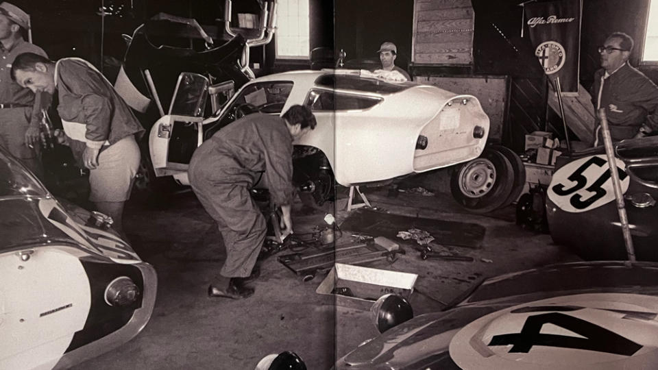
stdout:
MULTIPOLYGON (((658 261, 658 137, 623 140, 614 147, 635 257, 658 261)), ((603 147, 560 156, 546 195, 556 243, 587 260, 627 258, 603 147)))

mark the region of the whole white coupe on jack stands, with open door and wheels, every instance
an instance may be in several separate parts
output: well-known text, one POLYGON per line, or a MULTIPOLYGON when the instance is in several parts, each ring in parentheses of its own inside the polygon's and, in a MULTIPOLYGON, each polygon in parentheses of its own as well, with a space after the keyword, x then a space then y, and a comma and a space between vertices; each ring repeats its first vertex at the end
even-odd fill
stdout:
POLYGON ((323 69, 258 77, 221 104, 218 97, 230 95, 232 84, 209 88, 204 79, 182 73, 169 114, 151 128, 149 152, 158 176, 173 175, 187 184, 193 151, 222 127, 247 114, 280 115, 300 104, 317 119, 315 130, 293 143, 294 180, 307 192, 302 200, 312 206, 332 200, 334 182, 380 186, 476 158, 458 171, 458 188, 469 199, 461 204, 479 210, 482 199, 491 203, 487 194, 504 201, 511 193, 511 184, 504 192, 496 190, 501 183, 496 178, 513 179, 513 169, 499 151, 485 149, 489 117, 472 95, 391 82, 365 70, 323 69), (221 108, 204 118, 195 112, 204 106, 208 90, 210 101, 221 108))

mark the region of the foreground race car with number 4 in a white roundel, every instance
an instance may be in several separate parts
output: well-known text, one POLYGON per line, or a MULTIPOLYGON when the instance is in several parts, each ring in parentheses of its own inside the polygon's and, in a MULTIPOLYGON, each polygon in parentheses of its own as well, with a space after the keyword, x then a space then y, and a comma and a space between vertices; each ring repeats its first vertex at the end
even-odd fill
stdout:
POLYGON ((658 368, 655 262, 554 264, 484 280, 455 302, 402 323, 400 306, 375 311, 378 328, 382 317, 398 325, 334 369, 658 368))

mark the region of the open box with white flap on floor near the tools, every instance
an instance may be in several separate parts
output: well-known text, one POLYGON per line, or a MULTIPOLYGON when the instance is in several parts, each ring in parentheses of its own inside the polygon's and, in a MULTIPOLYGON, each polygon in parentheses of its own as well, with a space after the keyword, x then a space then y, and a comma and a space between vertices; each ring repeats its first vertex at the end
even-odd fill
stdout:
POLYGON ((334 297, 337 306, 369 310, 382 295, 394 293, 409 299, 418 275, 352 264, 334 264, 315 293, 334 297), (333 293, 349 289, 351 296, 333 293))

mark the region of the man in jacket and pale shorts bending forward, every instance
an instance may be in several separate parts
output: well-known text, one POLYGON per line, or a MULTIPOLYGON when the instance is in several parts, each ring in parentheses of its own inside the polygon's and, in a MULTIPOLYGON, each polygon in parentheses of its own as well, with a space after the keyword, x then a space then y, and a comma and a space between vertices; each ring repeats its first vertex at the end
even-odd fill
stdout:
POLYGON ((139 167, 136 140, 144 134, 132 110, 112 84, 80 58, 53 62, 22 53, 14 60, 12 79, 34 93, 57 90, 66 144, 90 170, 89 200, 99 212, 112 217, 112 227, 126 238, 123 206, 139 167))

